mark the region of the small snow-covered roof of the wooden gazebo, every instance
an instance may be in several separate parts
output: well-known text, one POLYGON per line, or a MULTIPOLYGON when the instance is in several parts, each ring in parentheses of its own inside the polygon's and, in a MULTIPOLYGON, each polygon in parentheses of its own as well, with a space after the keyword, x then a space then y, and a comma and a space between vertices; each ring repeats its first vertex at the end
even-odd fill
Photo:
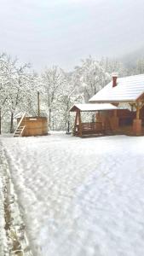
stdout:
POLYGON ((112 110, 117 109, 117 107, 113 106, 110 103, 97 103, 97 104, 75 104, 69 111, 96 111, 96 110, 112 110))

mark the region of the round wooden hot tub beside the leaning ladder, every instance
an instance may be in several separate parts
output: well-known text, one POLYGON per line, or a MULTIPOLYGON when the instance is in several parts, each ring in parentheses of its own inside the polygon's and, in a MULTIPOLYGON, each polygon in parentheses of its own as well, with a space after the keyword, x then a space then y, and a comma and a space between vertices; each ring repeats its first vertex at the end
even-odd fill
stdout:
MULTIPOLYGON (((19 123, 20 118, 17 119, 19 123)), ((22 136, 40 136, 48 134, 48 119, 46 117, 26 117, 22 120, 20 126, 24 126, 25 130, 22 136)))

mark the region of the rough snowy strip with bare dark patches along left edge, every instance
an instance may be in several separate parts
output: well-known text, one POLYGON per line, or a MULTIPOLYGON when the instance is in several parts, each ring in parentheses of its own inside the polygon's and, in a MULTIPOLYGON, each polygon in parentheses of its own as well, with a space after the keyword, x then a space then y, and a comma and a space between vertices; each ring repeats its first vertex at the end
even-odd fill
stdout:
POLYGON ((9 165, 0 142, 0 255, 32 256, 25 224, 14 191, 9 165))

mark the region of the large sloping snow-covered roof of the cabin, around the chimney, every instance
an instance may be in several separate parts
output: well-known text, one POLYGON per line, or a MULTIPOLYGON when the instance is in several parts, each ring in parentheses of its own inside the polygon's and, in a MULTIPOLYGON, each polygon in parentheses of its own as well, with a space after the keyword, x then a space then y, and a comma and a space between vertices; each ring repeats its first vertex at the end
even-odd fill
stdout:
POLYGON ((135 102, 144 93, 144 74, 118 78, 117 86, 112 82, 92 96, 89 102, 135 102))

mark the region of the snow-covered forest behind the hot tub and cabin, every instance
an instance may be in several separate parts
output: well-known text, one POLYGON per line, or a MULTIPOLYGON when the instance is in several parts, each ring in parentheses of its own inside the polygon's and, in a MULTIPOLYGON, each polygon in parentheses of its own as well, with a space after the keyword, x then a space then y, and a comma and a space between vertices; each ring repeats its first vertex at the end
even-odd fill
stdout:
POLYGON ((135 66, 125 67, 116 59, 92 56, 81 60, 80 65, 67 72, 60 67, 45 68, 36 73, 31 63, 21 64, 18 59, 0 55, 0 134, 13 133, 16 119, 26 112, 37 116, 37 91, 40 94, 40 115, 49 119, 49 130, 66 131, 72 125, 69 109, 73 103, 88 102, 101 90, 112 73, 119 77, 144 73, 144 59, 135 66))

